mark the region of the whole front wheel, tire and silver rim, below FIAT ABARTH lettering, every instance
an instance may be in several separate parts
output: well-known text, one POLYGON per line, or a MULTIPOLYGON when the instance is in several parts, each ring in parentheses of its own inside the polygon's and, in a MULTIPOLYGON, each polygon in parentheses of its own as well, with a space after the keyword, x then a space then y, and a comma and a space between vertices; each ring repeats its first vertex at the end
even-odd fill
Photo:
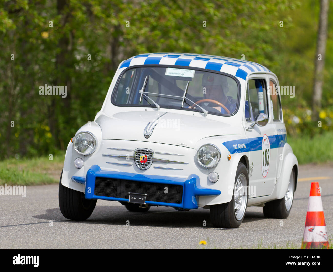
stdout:
POLYGON ((239 163, 231 201, 210 205, 210 220, 215 227, 237 228, 240 226, 247 207, 248 184, 247 169, 244 164, 239 163))

